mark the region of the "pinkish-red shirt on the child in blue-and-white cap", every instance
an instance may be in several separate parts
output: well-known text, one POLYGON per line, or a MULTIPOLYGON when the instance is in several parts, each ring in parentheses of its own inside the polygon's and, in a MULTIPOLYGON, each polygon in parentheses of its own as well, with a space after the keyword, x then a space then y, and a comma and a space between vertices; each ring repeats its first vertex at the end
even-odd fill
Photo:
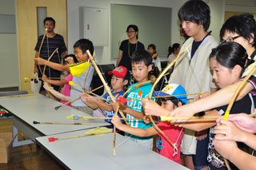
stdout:
POLYGON ((157 139, 157 152, 162 155, 166 156, 170 160, 174 160, 178 164, 182 164, 182 160, 180 158, 181 156, 181 143, 182 143, 182 137, 184 135, 184 129, 170 125, 169 121, 162 121, 158 123, 158 128, 162 130, 166 134, 166 136, 169 137, 170 141, 173 142, 178 148, 177 154, 174 156, 174 148, 173 146, 166 140, 164 136, 162 136, 161 133, 158 133, 158 139, 157 139))

